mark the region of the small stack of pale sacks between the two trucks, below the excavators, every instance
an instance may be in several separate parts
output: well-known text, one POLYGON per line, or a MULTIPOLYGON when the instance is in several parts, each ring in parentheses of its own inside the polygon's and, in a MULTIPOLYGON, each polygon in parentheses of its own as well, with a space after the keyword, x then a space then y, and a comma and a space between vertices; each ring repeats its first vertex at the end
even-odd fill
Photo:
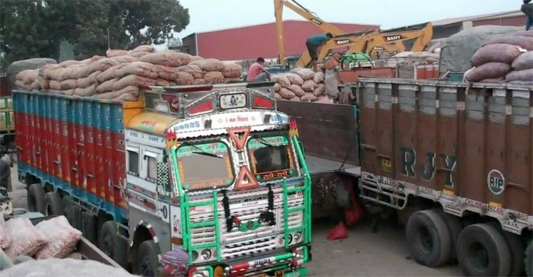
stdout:
POLYGON ((291 101, 315 102, 325 97, 324 73, 308 68, 296 68, 291 72, 271 76, 274 97, 291 101))

